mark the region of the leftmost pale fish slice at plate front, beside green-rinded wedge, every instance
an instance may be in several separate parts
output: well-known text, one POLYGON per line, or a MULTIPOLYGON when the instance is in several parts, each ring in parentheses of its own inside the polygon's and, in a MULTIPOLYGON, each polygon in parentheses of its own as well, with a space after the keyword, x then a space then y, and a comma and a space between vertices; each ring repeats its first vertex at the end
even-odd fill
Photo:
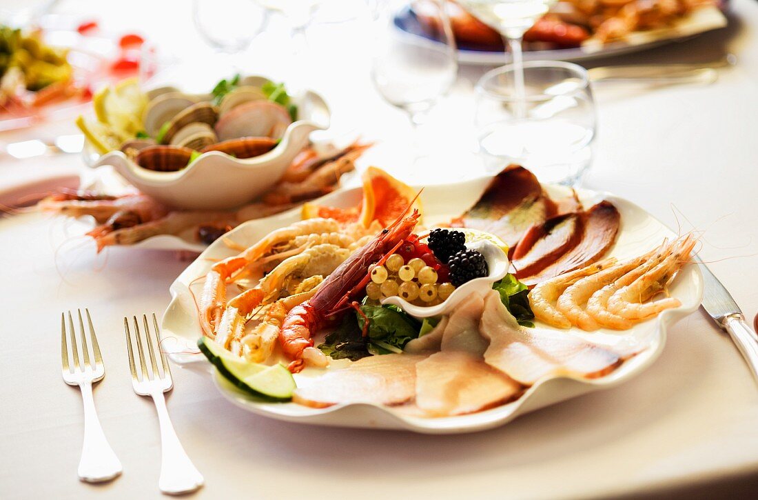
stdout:
POLYGON ((323 376, 299 379, 293 401, 315 408, 340 403, 402 404, 415 395, 416 363, 423 359, 413 354, 364 357, 323 376))

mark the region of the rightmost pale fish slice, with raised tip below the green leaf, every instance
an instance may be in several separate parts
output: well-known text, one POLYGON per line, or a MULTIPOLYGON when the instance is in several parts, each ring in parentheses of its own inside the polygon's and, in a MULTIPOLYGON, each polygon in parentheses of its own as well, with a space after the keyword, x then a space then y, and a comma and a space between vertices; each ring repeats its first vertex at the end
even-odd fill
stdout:
POLYGON ((479 328, 490 341, 484 361, 525 385, 544 376, 599 377, 622 361, 618 354, 569 333, 523 328, 496 291, 484 298, 479 328))

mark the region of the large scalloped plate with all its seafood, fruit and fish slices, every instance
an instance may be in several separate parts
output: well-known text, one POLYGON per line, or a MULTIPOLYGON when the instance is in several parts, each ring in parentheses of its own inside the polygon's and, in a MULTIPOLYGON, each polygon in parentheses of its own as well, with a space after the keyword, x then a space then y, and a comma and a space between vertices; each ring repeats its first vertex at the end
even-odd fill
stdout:
POLYGON ((630 379, 700 304, 697 239, 621 198, 362 179, 214 241, 171 285, 172 360, 280 420, 471 432, 630 379))

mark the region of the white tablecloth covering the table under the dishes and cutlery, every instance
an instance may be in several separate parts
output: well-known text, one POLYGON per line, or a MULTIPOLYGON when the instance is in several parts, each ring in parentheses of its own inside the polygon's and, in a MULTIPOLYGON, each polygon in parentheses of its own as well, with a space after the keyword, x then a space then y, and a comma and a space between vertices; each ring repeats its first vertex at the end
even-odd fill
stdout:
MULTIPOLYGON (((752 319, 758 310, 758 5, 732 3, 735 17, 726 30, 614 61, 706 62, 726 52, 737 58, 711 86, 598 87, 597 157, 585 185, 634 200, 683 231, 703 230, 703 259, 713 261, 713 272, 752 319)), ((62 2, 58 10, 98 13, 110 29, 138 29, 165 46, 184 46, 184 55, 197 49, 202 64, 208 55, 200 52, 188 4, 62 2)), ((333 102, 338 124, 354 125, 365 137, 400 140, 408 131, 405 117, 371 88, 359 36, 353 25, 313 27, 312 47, 342 42, 328 53, 316 50, 308 76, 333 102)), ((267 34, 253 43, 251 61, 264 73, 281 64, 271 56, 281 54, 276 40, 281 36, 267 34)), ((466 152, 471 86, 482 71, 462 68, 453 93, 434 110, 439 143, 460 153, 440 163, 443 178, 478 168, 466 152)), ((0 140, 73 131, 71 124, 49 124, 0 140)), ((80 159, 72 156, 2 157, 0 186, 78 168, 80 159)), ((161 313, 186 262, 171 253, 123 249, 95 256, 77 238, 82 228, 38 215, 0 220, 2 498, 159 496, 158 422, 152 401, 132 392, 121 322, 124 315, 161 313), (96 404, 124 464, 123 476, 101 486, 77 480, 83 412, 77 388, 64 385, 59 370, 58 315, 76 307, 89 307, 99 333, 107 375, 96 386, 96 404)), ((205 475, 201 498, 586 498, 740 478, 741 487, 756 486, 744 478, 758 474, 758 391, 731 341, 701 311, 671 329, 662 357, 634 381, 473 435, 281 423, 234 407, 207 376, 177 368, 174 378, 168 408, 205 475)))

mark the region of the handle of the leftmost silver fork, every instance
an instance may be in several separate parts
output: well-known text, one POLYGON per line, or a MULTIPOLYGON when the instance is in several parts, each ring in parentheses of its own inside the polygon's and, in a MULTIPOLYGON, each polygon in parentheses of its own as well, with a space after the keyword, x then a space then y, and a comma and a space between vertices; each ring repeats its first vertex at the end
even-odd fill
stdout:
POLYGON ((84 401, 84 443, 79 461, 79 479, 86 483, 101 483, 121 474, 121 462, 105 439, 92 398, 92 382, 79 385, 84 401))

